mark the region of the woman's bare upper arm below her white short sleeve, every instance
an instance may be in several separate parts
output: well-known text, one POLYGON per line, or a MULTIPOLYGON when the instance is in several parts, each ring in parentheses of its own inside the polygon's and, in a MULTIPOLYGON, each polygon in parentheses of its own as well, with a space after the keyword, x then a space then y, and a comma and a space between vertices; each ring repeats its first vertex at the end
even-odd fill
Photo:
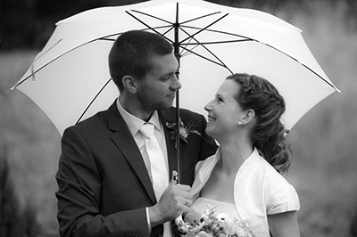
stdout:
POLYGON ((300 237, 296 211, 268 215, 268 224, 274 237, 300 237))

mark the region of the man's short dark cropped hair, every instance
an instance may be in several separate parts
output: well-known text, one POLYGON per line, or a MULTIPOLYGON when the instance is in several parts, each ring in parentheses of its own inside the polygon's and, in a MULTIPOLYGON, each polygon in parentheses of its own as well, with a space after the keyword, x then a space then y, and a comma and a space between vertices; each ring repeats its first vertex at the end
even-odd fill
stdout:
POLYGON ((152 68, 150 59, 153 55, 170 53, 172 45, 164 37, 143 30, 127 31, 116 39, 109 53, 112 80, 122 92, 124 76, 144 78, 152 68))

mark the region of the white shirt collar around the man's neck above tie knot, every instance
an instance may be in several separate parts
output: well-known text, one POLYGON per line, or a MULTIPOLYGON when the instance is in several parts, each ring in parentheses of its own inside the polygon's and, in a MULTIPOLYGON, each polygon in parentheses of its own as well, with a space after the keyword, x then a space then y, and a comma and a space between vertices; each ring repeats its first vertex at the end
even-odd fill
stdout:
MULTIPOLYGON (((119 98, 117 99, 117 107, 118 107, 121 117, 124 119, 125 123, 129 127, 130 134, 133 136, 136 135, 137 132, 139 131, 140 127, 142 127, 146 122, 142 119, 138 119, 134 115, 130 114, 127 110, 125 110, 121 106, 119 98)), ((157 110, 154 110, 154 113, 151 116, 148 123, 153 124, 157 130, 161 131, 160 119, 159 119, 159 114, 157 113, 157 110)))

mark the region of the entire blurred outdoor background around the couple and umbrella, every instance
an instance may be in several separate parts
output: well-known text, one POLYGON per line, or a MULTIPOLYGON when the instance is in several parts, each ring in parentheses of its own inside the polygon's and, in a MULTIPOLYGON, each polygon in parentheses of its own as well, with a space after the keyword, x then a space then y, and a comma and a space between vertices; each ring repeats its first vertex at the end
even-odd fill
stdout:
MULTIPOLYGON (((54 175, 61 136, 34 102, 10 88, 29 69, 56 21, 99 6, 138 2, 0 0, 1 237, 59 236, 54 175)), ((286 178, 299 193, 303 237, 357 236, 357 1, 210 2, 270 12, 302 29, 320 66, 342 91, 312 108, 288 135, 294 160, 286 178)))

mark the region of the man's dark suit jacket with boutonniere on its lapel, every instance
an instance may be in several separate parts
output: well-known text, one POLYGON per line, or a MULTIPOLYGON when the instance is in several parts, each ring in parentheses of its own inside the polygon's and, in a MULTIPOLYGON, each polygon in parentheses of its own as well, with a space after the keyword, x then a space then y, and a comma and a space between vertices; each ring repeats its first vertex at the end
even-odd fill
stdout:
MULTIPOLYGON (((176 109, 160 110, 159 117, 171 174, 178 170, 177 151, 165 123, 176 121, 176 109)), ((180 110, 180 118, 185 125, 195 125, 210 141, 191 134, 188 143, 180 143, 181 184, 191 185, 195 163, 211 156, 217 146, 204 132, 202 115, 180 110)), ((61 236, 149 236, 145 207, 156 203, 153 185, 115 102, 108 110, 64 131, 56 180, 61 236)), ((163 225, 158 225, 150 236, 162 233, 163 225)))

